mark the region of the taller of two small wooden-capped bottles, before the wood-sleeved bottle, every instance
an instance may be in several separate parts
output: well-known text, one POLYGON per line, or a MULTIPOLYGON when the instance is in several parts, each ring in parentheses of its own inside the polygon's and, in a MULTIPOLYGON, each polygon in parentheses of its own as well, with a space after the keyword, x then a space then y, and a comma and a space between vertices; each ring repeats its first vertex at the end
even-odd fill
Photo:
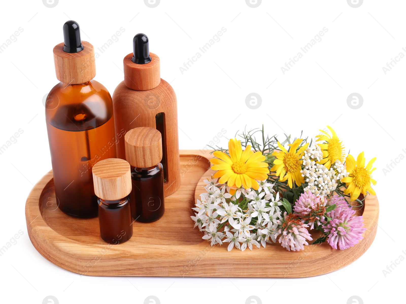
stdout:
POLYGON ((165 212, 161 133, 138 127, 125 134, 125 158, 131 165, 132 217, 154 222, 165 212))

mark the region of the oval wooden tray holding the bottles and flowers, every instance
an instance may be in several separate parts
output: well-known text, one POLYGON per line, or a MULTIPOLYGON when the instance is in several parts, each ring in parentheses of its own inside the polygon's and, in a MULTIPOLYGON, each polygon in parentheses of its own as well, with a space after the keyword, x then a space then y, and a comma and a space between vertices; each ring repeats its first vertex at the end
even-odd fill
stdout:
POLYGON ((367 196, 363 211, 364 239, 347 250, 326 242, 289 252, 279 244, 244 252, 227 245, 211 247, 193 229, 196 198, 211 175, 207 152, 181 151, 181 186, 165 198, 165 214, 153 223, 134 222, 132 238, 119 245, 105 243, 99 220, 65 215, 55 203, 52 171, 31 190, 26 202, 28 235, 46 259, 71 272, 90 276, 211 276, 297 278, 340 269, 369 248, 378 226, 378 199, 367 196))

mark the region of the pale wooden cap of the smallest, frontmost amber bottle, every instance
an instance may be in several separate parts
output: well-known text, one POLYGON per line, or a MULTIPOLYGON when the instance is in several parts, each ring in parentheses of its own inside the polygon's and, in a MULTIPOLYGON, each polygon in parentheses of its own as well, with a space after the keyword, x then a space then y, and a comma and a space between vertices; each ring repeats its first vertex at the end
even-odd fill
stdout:
POLYGON ((97 197, 108 201, 124 198, 132 190, 130 164, 121 158, 97 162, 92 169, 97 197))

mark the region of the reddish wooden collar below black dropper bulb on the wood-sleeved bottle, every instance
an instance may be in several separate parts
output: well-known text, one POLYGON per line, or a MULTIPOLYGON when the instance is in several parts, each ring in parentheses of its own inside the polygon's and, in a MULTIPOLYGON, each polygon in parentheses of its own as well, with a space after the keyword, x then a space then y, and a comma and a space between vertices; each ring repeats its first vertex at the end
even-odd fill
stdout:
POLYGON ((149 53, 151 61, 138 65, 131 61, 133 53, 124 57, 124 83, 128 88, 137 91, 147 91, 156 88, 161 82, 159 57, 149 53))

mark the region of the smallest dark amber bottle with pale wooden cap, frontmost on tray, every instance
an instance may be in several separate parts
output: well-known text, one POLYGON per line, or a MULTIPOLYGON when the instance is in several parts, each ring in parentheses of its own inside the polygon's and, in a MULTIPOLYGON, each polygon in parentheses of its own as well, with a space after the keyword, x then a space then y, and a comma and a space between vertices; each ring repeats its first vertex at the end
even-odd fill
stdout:
POLYGON ((92 172, 99 204, 100 236, 110 244, 123 243, 132 236, 130 164, 109 158, 95 164, 92 172))

